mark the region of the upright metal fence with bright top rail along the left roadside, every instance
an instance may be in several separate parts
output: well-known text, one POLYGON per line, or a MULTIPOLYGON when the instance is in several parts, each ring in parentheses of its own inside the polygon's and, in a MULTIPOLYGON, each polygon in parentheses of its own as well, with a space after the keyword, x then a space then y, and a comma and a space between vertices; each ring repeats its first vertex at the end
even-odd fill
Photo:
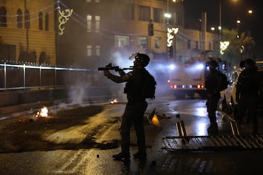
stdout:
POLYGON ((5 62, 0 63, 0 91, 57 88, 83 82, 100 86, 102 76, 98 70, 5 62))

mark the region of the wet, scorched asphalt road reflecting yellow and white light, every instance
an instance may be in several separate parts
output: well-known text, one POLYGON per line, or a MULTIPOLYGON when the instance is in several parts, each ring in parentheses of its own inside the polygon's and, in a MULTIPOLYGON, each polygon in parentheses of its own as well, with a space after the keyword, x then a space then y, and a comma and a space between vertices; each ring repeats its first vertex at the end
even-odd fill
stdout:
MULTIPOLYGON (((173 97, 149 101, 144 120, 148 158, 112 160, 120 151, 119 120, 124 107, 121 101, 61 105, 49 107, 45 118, 30 114, 1 121, 0 174, 262 174, 261 149, 167 151, 163 138, 178 136, 176 114, 188 136, 208 136, 205 100, 173 97), (160 126, 147 119, 153 109, 160 126)), ((232 135, 229 116, 218 111, 217 118, 220 135, 232 135)), ((249 134, 251 125, 241 129, 241 134, 249 134)), ((133 129, 130 149, 131 154, 137 152, 133 129)))

